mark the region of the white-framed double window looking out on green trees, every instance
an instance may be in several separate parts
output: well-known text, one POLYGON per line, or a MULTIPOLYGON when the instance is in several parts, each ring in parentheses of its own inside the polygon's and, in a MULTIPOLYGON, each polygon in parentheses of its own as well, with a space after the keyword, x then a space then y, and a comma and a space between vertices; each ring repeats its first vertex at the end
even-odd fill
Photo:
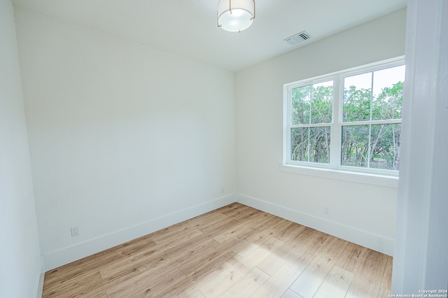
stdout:
POLYGON ((284 85, 284 164, 398 176, 403 59, 284 85))

